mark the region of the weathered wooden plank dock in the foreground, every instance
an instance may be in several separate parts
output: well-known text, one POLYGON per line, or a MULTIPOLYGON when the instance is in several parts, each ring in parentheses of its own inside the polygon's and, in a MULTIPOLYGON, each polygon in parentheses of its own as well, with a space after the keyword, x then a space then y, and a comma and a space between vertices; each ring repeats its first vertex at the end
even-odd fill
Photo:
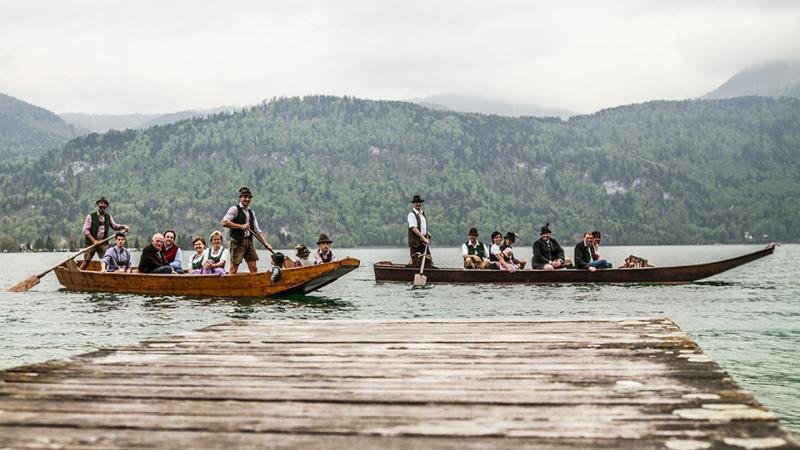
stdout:
POLYGON ((2 448, 798 449, 668 319, 242 321, 0 372, 2 448))

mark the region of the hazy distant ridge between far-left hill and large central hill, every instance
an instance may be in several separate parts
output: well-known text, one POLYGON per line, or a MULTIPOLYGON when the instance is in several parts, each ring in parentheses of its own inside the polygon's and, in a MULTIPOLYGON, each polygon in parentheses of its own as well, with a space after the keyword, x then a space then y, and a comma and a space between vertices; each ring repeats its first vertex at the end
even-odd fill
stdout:
POLYGON ((108 130, 126 130, 166 125, 194 117, 208 116, 223 111, 232 111, 232 106, 203 110, 185 110, 166 114, 86 114, 62 113, 61 118, 78 129, 91 133, 105 133, 108 130))

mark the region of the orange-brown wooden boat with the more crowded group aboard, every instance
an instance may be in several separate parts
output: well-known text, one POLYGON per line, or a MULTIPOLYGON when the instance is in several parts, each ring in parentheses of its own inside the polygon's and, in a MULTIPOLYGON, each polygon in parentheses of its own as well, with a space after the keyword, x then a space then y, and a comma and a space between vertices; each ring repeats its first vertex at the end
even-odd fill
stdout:
POLYGON ((104 273, 94 262, 80 270, 74 260, 55 269, 59 283, 67 289, 148 295, 189 295, 203 297, 265 297, 275 294, 305 294, 332 283, 358 268, 360 261, 345 258, 325 264, 283 269, 272 282, 270 272, 235 275, 157 275, 147 273, 104 273))

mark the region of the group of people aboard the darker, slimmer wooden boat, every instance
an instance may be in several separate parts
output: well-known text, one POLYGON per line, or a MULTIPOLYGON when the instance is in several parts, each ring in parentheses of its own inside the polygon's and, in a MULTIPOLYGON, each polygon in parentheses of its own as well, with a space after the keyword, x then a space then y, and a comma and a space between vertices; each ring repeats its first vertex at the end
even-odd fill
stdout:
MULTIPOLYGON (((425 260, 426 267, 433 266, 428 232, 428 222, 422 204, 425 200, 419 195, 411 199, 411 212, 408 213, 408 247, 411 254, 410 266, 419 267, 425 260)), ((592 272, 598 269, 610 269, 611 261, 600 257, 600 231, 587 231, 583 240, 575 245, 573 259, 564 255, 564 249, 552 237, 550 223, 541 227, 539 239, 533 243, 533 259, 531 269, 557 270, 565 268, 587 269, 592 272)), ((523 270, 527 261, 514 256, 514 243, 519 236, 508 232, 503 236, 499 231, 491 235, 491 244, 478 240, 478 230, 470 228, 467 241, 461 245, 461 255, 465 269, 496 269, 507 272, 523 270)))

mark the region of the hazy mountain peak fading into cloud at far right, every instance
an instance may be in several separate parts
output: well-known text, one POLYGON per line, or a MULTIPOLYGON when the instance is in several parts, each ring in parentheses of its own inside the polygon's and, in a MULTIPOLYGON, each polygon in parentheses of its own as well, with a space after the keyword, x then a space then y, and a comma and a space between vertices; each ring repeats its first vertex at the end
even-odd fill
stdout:
POLYGON ((748 95, 800 98, 800 64, 774 63, 743 70, 703 98, 748 95))

